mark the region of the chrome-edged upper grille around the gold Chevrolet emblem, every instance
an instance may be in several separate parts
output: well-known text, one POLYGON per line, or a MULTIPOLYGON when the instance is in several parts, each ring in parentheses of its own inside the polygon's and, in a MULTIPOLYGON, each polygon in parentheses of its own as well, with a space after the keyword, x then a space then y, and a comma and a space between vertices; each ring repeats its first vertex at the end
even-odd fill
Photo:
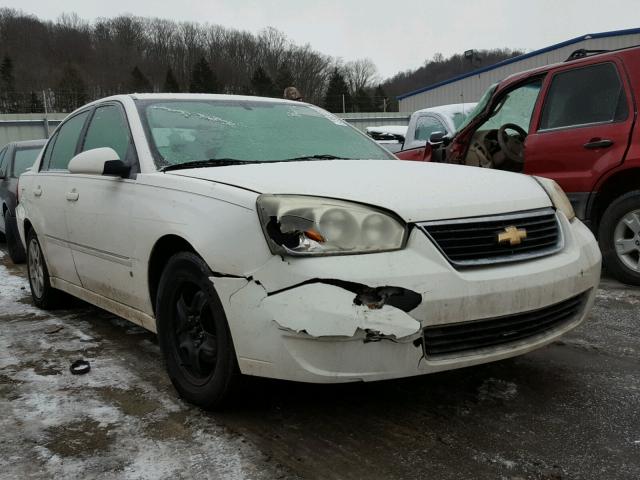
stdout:
POLYGON ((423 222, 418 227, 456 267, 528 260, 563 246, 562 229, 552 208, 423 222), (499 243, 498 235, 509 227, 526 230, 526 238, 514 245, 499 243))

